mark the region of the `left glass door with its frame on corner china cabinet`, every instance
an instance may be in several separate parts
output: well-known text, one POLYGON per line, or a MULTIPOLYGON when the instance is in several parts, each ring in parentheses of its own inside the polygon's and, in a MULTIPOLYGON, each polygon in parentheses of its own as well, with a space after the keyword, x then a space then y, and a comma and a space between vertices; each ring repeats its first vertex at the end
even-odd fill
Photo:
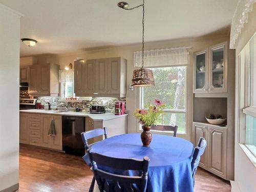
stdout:
POLYGON ((207 51, 195 53, 195 68, 194 68, 194 93, 208 92, 208 76, 207 76, 207 51))

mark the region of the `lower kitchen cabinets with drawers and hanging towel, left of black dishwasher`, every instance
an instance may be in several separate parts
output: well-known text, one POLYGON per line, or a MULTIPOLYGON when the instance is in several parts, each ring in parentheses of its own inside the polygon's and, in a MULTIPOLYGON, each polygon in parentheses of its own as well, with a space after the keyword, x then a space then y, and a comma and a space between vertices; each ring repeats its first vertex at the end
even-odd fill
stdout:
POLYGON ((20 113, 19 142, 62 150, 61 116, 20 113), (54 126, 55 135, 49 135, 54 126))

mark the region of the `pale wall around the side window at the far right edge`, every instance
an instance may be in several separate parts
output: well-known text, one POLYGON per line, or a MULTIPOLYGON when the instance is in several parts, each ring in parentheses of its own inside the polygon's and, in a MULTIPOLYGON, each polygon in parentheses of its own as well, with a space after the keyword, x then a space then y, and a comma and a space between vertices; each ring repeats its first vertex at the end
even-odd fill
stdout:
MULTIPOLYGON (((242 29, 242 33, 239 35, 238 48, 236 49, 236 66, 238 66, 238 55, 243 49, 243 47, 250 40, 252 35, 256 32, 256 4, 253 6, 253 11, 249 14, 248 23, 245 24, 242 29)), ((236 73, 238 74, 238 67, 236 68, 236 73)), ((238 87, 238 76, 236 76, 236 87, 238 87)), ((236 94, 236 99, 238 95, 236 94)), ((237 100, 238 101, 238 100, 237 100)), ((236 101, 236 102, 237 102, 236 101)), ((238 105, 237 105, 238 106, 238 105)), ((234 184, 232 185, 232 191, 241 192, 255 192, 256 191, 256 168, 245 155, 244 151, 238 143, 238 119, 236 109, 236 134, 235 134, 235 158, 234 158, 234 184), (238 186, 238 187, 236 187, 238 186)))

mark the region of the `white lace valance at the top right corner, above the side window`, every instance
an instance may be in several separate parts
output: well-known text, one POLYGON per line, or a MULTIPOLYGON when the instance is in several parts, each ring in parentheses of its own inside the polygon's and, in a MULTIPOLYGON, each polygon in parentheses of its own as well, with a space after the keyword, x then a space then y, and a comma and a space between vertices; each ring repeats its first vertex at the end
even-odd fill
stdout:
POLYGON ((252 11, 254 3, 256 3, 256 0, 239 0, 232 19, 229 45, 230 49, 237 48, 238 36, 244 28, 244 24, 248 22, 248 14, 252 11))

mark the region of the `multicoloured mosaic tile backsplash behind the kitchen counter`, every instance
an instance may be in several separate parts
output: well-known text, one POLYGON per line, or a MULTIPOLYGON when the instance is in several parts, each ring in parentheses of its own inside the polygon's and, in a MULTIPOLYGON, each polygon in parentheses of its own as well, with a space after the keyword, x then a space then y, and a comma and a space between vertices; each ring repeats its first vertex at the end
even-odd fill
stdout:
POLYGON ((125 98, 99 98, 99 97, 93 97, 91 101, 88 100, 82 100, 82 101, 63 101, 60 100, 59 97, 38 97, 38 101, 41 103, 50 102, 51 105, 53 105, 54 102, 56 102, 58 107, 63 107, 64 104, 68 102, 69 108, 76 108, 79 107, 81 109, 86 109, 89 111, 90 105, 92 104, 103 104, 105 105, 105 108, 107 110, 112 110, 115 107, 116 101, 126 101, 125 98))

